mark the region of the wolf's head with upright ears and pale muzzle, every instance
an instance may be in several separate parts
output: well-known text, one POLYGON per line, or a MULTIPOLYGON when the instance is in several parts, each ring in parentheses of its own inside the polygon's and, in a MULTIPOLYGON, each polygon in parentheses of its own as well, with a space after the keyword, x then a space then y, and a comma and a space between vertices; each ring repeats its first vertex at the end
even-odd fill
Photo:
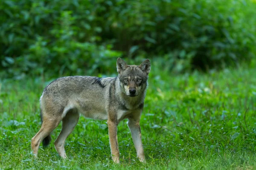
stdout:
POLYGON ((118 58, 116 67, 119 73, 120 88, 127 96, 138 96, 145 90, 150 72, 149 59, 140 65, 127 65, 124 60, 118 58))

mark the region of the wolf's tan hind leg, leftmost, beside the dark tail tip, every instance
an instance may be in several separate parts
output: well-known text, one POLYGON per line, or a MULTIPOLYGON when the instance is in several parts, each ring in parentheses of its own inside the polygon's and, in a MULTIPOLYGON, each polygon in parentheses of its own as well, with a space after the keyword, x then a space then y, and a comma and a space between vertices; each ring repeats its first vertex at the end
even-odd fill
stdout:
POLYGON ((31 140, 31 149, 32 152, 34 154, 34 156, 37 156, 38 154, 38 148, 40 143, 47 137, 50 135, 50 133, 52 132, 52 130, 54 130, 58 124, 61 122, 61 119, 49 119, 49 118, 44 118, 43 124, 40 128, 40 130, 38 131, 38 133, 36 133, 36 135, 32 138, 31 140))

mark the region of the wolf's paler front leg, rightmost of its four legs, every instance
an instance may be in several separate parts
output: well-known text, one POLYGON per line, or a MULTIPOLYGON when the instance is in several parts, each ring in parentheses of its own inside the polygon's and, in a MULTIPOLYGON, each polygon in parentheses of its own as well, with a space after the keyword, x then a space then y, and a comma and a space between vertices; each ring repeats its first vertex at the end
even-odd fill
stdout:
POLYGON ((141 162, 145 161, 143 145, 141 142, 140 120, 129 119, 128 127, 131 131, 132 140, 137 152, 137 156, 141 162))

